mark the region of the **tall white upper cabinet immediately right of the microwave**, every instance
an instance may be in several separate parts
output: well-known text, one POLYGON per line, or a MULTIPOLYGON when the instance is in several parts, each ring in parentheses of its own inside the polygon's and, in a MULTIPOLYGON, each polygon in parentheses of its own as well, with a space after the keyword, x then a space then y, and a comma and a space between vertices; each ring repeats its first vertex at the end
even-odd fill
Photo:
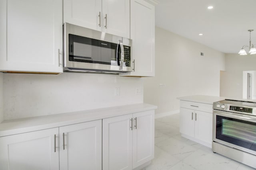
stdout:
POLYGON ((130 8, 133 72, 121 76, 154 76, 155 6, 144 0, 131 0, 130 8))

